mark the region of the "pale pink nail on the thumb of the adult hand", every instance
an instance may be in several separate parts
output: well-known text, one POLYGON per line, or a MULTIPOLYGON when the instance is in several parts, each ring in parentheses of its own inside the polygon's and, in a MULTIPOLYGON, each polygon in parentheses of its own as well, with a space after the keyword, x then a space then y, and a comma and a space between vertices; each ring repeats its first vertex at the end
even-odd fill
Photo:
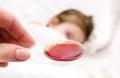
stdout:
POLYGON ((18 49, 16 50, 16 59, 17 60, 27 60, 30 57, 30 52, 25 49, 18 49))

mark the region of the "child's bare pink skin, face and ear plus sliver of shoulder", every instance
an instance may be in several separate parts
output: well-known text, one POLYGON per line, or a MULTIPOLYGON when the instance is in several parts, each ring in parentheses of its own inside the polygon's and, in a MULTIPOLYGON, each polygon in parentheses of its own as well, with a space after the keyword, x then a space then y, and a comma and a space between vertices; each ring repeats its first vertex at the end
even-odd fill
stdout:
MULTIPOLYGON (((32 21, 30 24, 42 25, 40 22, 37 21, 32 21)), ((57 17, 54 17, 50 20, 50 22, 48 23, 48 27, 57 30, 67 39, 75 40, 80 43, 84 43, 86 41, 85 32, 79 26, 70 22, 59 24, 59 19, 57 17)))

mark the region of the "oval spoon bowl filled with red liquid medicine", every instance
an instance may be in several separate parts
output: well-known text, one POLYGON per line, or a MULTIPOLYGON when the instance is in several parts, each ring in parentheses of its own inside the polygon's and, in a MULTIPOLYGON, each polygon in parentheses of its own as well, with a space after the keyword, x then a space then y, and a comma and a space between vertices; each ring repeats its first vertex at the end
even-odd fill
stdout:
POLYGON ((45 49, 45 55, 56 61, 72 61, 83 54, 83 47, 75 41, 65 41, 50 44, 45 49))

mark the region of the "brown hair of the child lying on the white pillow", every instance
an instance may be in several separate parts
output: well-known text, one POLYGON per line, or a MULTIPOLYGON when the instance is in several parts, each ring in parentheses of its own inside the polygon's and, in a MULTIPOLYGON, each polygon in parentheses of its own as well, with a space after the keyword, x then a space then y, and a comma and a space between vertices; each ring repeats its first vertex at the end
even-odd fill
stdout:
POLYGON ((83 13, 75 10, 69 9, 56 15, 60 23, 69 22, 79 26, 85 33, 85 40, 87 40, 93 30, 92 16, 86 16, 83 13))

